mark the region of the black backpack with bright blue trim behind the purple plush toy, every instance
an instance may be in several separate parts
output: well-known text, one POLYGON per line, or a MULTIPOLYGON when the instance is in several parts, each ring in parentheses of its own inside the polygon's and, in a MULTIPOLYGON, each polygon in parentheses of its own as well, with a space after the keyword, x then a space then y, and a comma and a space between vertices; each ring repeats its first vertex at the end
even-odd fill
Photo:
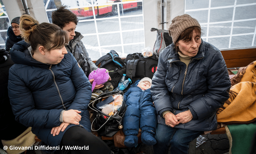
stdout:
POLYGON ((124 61, 119 57, 118 53, 111 50, 106 55, 102 56, 95 63, 96 66, 100 64, 99 68, 105 68, 109 72, 111 80, 109 81, 114 89, 118 86, 119 80, 122 78, 123 74, 126 73, 126 65, 124 61))

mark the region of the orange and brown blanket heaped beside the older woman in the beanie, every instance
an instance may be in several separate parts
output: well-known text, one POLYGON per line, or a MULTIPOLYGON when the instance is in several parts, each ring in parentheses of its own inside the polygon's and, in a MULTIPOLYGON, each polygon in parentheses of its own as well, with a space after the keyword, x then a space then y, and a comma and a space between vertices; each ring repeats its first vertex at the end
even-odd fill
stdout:
POLYGON ((230 81, 229 99, 217 110, 217 122, 249 124, 256 121, 256 61, 239 68, 230 81))

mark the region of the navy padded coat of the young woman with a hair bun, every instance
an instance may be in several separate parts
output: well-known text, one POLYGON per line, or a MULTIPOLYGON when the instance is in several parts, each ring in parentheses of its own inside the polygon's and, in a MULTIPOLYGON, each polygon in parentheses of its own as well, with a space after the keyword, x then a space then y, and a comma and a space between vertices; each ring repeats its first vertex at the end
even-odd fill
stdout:
MULTIPOLYGON (((46 145, 59 146, 68 125, 55 137, 53 127, 60 126, 62 110, 82 111, 81 127, 91 131, 87 110, 92 86, 70 52, 57 65, 33 59, 21 41, 10 50, 15 63, 9 70, 8 93, 15 120, 32 127, 32 132, 46 145)), ((52 152, 47 151, 47 152, 52 152)))

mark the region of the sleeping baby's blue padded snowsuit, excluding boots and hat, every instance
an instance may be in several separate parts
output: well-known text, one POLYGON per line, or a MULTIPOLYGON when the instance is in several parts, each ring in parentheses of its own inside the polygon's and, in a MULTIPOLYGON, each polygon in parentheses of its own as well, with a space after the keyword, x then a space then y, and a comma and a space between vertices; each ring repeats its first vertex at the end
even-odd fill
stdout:
POLYGON ((142 131, 155 132, 157 125, 156 109, 153 105, 150 89, 141 90, 137 80, 124 94, 127 109, 123 119, 124 134, 137 135, 139 128, 142 131))

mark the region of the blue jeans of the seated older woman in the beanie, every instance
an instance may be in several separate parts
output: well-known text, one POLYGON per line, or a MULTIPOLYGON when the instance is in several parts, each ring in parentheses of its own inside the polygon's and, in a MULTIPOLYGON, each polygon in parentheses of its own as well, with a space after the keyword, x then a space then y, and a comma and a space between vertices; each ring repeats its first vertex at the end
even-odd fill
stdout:
POLYGON ((154 154, 167 154, 169 146, 171 146, 171 154, 187 154, 189 142, 200 134, 202 134, 201 131, 177 129, 157 124, 155 135, 157 143, 153 146, 154 154))

